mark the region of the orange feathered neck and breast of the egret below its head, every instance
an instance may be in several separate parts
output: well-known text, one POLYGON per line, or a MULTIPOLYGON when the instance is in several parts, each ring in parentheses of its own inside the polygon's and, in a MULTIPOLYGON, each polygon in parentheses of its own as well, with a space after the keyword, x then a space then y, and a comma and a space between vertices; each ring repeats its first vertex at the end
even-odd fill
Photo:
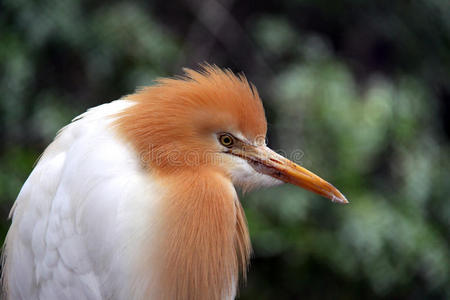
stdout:
MULTIPOLYGON (((251 246, 242 206, 231 181, 217 172, 168 175, 161 202, 158 274, 152 299, 234 297, 245 277, 251 246)), ((149 245, 150 247, 154 247, 149 245)), ((149 252, 152 253, 152 252, 149 252)), ((149 297, 150 298, 150 297, 149 297)))

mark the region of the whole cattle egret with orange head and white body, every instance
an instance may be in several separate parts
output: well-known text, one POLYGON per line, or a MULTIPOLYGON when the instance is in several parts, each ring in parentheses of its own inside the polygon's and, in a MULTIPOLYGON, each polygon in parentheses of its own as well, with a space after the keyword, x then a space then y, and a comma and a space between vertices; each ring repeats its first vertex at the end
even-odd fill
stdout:
POLYGON ((233 299, 250 240, 236 193, 288 182, 347 203, 265 144, 243 75, 204 65, 88 110, 12 209, 9 299, 233 299))

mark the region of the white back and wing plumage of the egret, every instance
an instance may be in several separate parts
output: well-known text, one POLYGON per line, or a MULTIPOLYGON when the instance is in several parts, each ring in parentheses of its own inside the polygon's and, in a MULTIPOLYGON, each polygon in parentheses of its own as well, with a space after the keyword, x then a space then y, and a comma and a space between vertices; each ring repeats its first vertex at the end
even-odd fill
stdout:
POLYGON ((111 115, 129 105, 119 100, 77 118, 27 179, 7 237, 10 299, 130 299, 138 293, 130 273, 139 263, 133 249, 142 231, 148 234, 142 223, 151 219, 154 187, 133 149, 108 126, 111 115))

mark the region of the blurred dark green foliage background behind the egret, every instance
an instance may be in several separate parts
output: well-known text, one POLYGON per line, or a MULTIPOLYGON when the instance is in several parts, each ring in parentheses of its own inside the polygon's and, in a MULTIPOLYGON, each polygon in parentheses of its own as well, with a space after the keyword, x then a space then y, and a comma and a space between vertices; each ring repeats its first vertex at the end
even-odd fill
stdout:
POLYGON ((0 0, 0 230, 87 108, 207 61, 262 95, 269 145, 334 183, 243 195, 240 299, 450 297, 450 3, 0 0))

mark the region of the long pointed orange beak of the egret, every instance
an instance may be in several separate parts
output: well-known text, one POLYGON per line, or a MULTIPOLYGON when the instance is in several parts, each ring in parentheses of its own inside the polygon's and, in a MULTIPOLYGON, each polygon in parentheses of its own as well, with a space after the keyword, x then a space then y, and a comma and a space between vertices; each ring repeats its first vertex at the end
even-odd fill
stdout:
POLYGON ((231 150, 231 153, 246 159, 259 173, 297 185, 333 202, 348 203, 345 196, 333 185, 266 146, 256 147, 247 144, 240 149, 231 150))

